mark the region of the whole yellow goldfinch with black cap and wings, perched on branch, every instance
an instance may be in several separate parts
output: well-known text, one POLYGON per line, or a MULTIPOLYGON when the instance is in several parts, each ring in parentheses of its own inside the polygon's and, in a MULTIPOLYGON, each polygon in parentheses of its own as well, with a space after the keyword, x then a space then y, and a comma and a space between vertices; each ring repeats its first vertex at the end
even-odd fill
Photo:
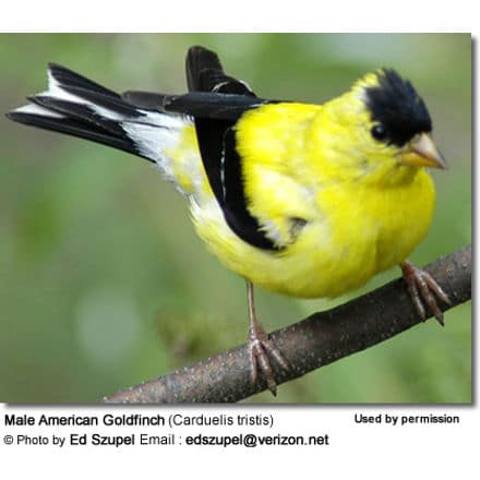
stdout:
POLYGON ((259 98, 192 47, 189 93, 107 89, 63 67, 48 91, 9 113, 22 123, 130 152, 187 197, 195 229, 247 280, 251 379, 269 389, 271 359, 288 362, 255 315, 253 285, 335 297, 400 265, 419 314, 443 323, 434 279, 406 262, 435 203, 425 167, 445 168, 427 107, 394 70, 369 73, 324 105, 259 98))

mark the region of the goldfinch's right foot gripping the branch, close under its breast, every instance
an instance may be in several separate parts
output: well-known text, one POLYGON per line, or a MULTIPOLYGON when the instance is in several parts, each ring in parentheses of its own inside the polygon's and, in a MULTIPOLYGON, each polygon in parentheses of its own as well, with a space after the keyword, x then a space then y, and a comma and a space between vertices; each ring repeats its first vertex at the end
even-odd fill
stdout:
POLYGON ((427 317, 425 308, 423 305, 424 302, 435 316, 436 321, 443 326, 443 312, 440 310, 435 297, 444 303, 451 304, 452 302, 448 296, 429 273, 416 267, 409 262, 404 262, 400 267, 415 308, 421 319, 424 321, 427 317))

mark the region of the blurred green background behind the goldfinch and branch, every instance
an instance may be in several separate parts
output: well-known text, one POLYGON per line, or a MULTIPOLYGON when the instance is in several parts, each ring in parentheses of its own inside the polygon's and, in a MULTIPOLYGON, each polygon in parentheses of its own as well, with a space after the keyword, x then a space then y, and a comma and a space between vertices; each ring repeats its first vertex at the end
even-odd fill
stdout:
MULTIPOLYGON (((451 167, 434 172, 434 224, 411 260, 470 242, 470 35, 4 34, 0 110, 46 88, 48 61, 117 91, 181 93, 193 44, 274 98, 322 103, 368 71, 397 69, 424 97, 451 167)), ((155 168, 4 117, 0 135, 0 400, 97 401, 245 340, 243 280, 207 253, 155 168)), ((256 297, 269 331, 347 300, 256 297)), ((470 403, 470 303, 445 328, 429 321, 249 401, 470 403)))

